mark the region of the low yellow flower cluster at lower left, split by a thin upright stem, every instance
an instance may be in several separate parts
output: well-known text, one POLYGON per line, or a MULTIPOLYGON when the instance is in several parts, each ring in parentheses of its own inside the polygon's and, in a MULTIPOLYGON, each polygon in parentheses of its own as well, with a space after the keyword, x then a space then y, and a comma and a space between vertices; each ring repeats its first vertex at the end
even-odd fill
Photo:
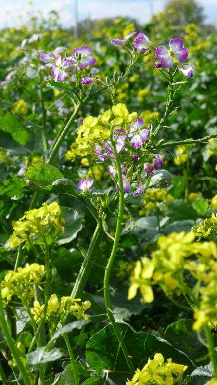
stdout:
MULTIPOLYGON (((72 314, 77 319, 89 319, 89 316, 85 314, 85 311, 90 308, 91 303, 90 301, 84 301, 79 305, 78 302, 80 301, 81 299, 72 299, 69 296, 63 296, 60 299, 56 294, 52 294, 48 302, 46 321, 56 321, 61 316, 65 317, 67 314, 72 314)), ((40 305, 38 301, 35 301, 31 313, 36 322, 40 322, 43 310, 44 304, 40 305)))

